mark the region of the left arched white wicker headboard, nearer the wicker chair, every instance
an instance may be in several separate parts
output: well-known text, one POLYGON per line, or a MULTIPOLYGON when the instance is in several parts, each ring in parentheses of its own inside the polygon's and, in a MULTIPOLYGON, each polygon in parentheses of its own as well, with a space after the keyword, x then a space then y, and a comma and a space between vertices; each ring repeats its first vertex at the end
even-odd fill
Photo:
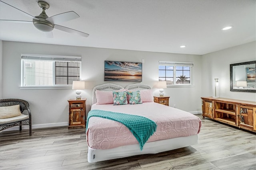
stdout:
POLYGON ((113 83, 106 83, 106 84, 101 84, 101 85, 95 86, 92 90, 92 104, 95 104, 97 102, 96 94, 95 94, 96 90, 115 91, 115 90, 120 90, 120 89, 124 89, 124 88, 122 86, 119 86, 119 85, 113 84, 113 83))

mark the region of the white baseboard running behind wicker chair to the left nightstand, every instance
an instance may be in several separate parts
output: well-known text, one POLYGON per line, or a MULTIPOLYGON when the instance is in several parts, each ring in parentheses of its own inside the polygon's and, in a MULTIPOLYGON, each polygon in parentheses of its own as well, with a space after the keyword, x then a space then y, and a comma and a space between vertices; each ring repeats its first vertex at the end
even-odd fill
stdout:
MULTIPOLYGON (((40 124, 40 125, 32 125, 32 129, 39 129, 39 128, 46 128, 46 127, 59 127, 59 126, 68 126, 68 122, 61 122, 61 123, 47 123, 47 124, 40 124)), ((22 129, 29 129, 28 125, 22 125, 22 129)), ((10 127, 3 131, 19 131, 20 127, 10 127)))

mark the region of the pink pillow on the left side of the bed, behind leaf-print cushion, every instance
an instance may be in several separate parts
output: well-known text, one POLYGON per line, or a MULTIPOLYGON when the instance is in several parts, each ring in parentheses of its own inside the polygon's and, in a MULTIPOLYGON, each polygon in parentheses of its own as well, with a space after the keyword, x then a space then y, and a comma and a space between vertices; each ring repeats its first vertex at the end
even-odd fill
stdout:
MULTIPOLYGON (((125 89, 116 90, 115 92, 122 92, 125 91, 125 89)), ((96 104, 114 104, 113 99, 113 91, 95 91, 96 95, 96 104)))

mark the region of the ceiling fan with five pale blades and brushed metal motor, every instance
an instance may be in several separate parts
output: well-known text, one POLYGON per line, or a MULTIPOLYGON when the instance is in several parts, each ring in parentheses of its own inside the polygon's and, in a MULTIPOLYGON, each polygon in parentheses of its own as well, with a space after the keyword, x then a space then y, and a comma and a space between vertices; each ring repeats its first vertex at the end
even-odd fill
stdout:
MULTIPOLYGON (((0 1, 4 4, 7 4, 3 1, 0 1)), ((10 4, 7 4, 8 6, 11 6, 10 4)), ((84 33, 84 32, 81 32, 81 31, 78 31, 78 30, 75 30, 75 29, 72 29, 72 28, 68 28, 68 27, 64 27, 64 26, 61 26, 61 25, 57 25, 56 23, 59 23, 59 22, 63 22, 63 21, 69 21, 69 20, 74 20, 76 18, 79 18, 80 16, 78 14, 76 14, 76 12, 74 11, 70 11, 70 12, 64 12, 62 14, 57 14, 55 16, 51 16, 51 17, 48 17, 46 15, 46 12, 45 10, 47 10, 48 8, 50 8, 50 5, 47 3, 47 2, 44 2, 44 1, 38 1, 38 5, 40 6, 40 8, 42 8, 42 13, 39 14, 39 16, 32 16, 14 6, 11 6, 12 8, 15 8, 16 10, 19 10, 19 12, 22 12, 22 14, 25 14, 26 16, 32 18, 33 20, 32 21, 20 21, 20 20, 0 20, 0 21, 12 21, 12 22, 28 22, 28 23, 33 23, 34 26, 40 30, 40 31, 43 31, 43 32, 46 32, 46 35, 48 37, 53 37, 52 35, 52 30, 55 28, 55 29, 59 29, 61 31, 65 31, 65 32, 68 32, 68 33, 74 33, 74 34, 77 34, 77 35, 80 35, 82 37, 88 37, 89 34, 87 33, 84 33)))

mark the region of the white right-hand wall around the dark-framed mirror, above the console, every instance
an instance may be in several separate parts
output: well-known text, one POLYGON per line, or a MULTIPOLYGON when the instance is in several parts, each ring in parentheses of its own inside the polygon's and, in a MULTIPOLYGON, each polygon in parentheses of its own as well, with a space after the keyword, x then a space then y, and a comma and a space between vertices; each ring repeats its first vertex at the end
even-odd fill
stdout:
POLYGON ((214 95, 214 78, 219 78, 220 97, 255 102, 255 93, 230 91, 230 64, 255 60, 256 41, 202 55, 202 96, 214 95))

